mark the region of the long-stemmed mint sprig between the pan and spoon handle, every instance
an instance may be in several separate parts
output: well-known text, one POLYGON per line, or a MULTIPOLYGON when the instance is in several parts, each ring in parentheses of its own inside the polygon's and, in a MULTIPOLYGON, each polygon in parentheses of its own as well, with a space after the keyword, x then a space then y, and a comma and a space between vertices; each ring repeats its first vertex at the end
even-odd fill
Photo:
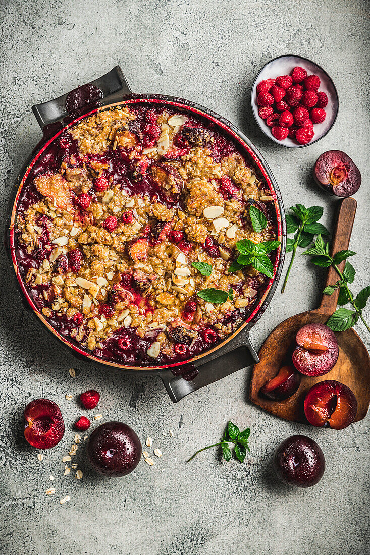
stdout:
POLYGON ((287 234, 294 233, 294 238, 287 239, 286 250, 287 253, 293 252, 293 254, 281 289, 282 293, 287 285, 298 246, 305 248, 311 245, 315 235, 329 235, 326 227, 318 222, 324 211, 321 206, 306 208, 303 204, 296 204, 291 206, 291 211, 293 214, 286 215, 287 234))

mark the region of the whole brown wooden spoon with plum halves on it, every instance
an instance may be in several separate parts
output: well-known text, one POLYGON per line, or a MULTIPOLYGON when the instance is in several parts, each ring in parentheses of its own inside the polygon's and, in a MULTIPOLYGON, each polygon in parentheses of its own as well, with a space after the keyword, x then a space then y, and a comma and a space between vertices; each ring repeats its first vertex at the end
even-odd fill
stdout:
MULTIPOLYGON (((339 250, 348 249, 356 207, 357 202, 352 198, 344 199, 341 203, 332 239, 332 256, 339 250)), ((341 271, 344 264, 343 261, 339 265, 341 271)), ((336 271, 329 267, 324 287, 333 285, 338 279, 336 271)), ((284 320, 267 337, 258 354, 260 362, 254 365, 252 371, 249 398, 253 403, 286 420, 308 423, 304 416, 303 401, 309 388, 324 380, 337 380, 351 388, 356 395, 358 407, 354 422, 366 416, 370 402, 370 357, 353 328, 335 334, 339 344, 339 357, 337 364, 328 374, 317 377, 302 375, 298 391, 285 401, 271 401, 259 394, 261 387, 267 380, 276 376, 282 366, 292 364, 289 357, 292 346, 295 345, 297 331, 312 322, 325 324, 336 310, 338 295, 339 289, 332 295, 323 295, 318 309, 302 312, 284 320)))

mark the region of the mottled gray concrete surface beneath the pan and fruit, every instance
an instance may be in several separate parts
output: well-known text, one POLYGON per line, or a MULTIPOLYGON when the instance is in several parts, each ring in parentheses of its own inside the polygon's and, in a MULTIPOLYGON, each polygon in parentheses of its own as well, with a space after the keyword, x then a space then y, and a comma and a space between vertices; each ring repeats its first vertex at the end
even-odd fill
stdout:
MULTIPOLYGON (((17 172, 40 136, 31 105, 119 63, 133 90, 195 100, 236 123, 271 165, 286 207, 321 204, 329 226, 334 203, 313 185, 312 164, 332 148, 353 155, 363 175, 351 241, 359 253, 353 259, 354 289, 368 284, 367 2, 2 0, 1 7, 2 221, 17 172), (316 60, 339 92, 335 127, 306 149, 270 142, 249 107, 257 70, 283 53, 316 60)), ((286 293, 276 293, 252 332, 254 345, 284 318, 317 306, 322 283, 321 272, 298 256, 286 293)), ((340 432, 280 421, 248 402, 248 370, 173 405, 157 378, 109 374, 61 354, 34 329, 8 271, 2 273, 0 302, 2 555, 369 553, 368 418, 340 432), (70 366, 76 379, 68 374, 70 366), (163 451, 155 466, 142 462, 127 478, 107 480, 85 465, 82 446, 76 462, 83 479, 63 476, 61 457, 81 413, 76 396, 90 387, 101 392, 104 421, 129 423, 143 441, 153 437, 163 451), (32 398, 42 396, 59 403, 67 431, 39 462, 23 440, 21 415, 32 398), (185 465, 194 450, 220 437, 228 419, 252 428, 246 463, 222 462, 216 451, 208 451, 185 465), (274 448, 293 433, 313 437, 326 456, 322 481, 308 490, 279 485, 271 473, 274 448), (53 497, 44 493, 50 486, 57 490, 53 497), (61 506, 59 499, 67 494, 71 501, 61 506)), ((357 330, 368 343, 364 327, 357 330)))

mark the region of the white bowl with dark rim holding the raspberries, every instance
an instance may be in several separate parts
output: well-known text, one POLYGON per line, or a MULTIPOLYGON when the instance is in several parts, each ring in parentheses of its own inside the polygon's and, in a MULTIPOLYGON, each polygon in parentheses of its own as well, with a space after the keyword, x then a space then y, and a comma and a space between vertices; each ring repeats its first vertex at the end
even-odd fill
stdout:
POLYGON ((252 87, 252 110, 254 118, 258 123, 259 127, 262 129, 263 133, 267 137, 273 140, 277 144, 283 145, 283 147, 288 148, 301 148, 308 147, 310 144, 316 143, 318 140, 322 139, 329 130, 333 127, 335 120, 337 119, 339 109, 339 100, 337 89, 329 77, 329 75, 324 71, 319 65, 307 58, 302 58, 301 56, 279 56, 270 60, 263 66, 259 71, 256 79, 254 79, 252 87), (326 112, 326 118, 322 123, 316 123, 313 126, 315 132, 314 137, 310 143, 299 144, 295 139, 289 139, 287 137, 284 140, 277 140, 271 133, 271 127, 268 127, 266 120, 262 119, 258 115, 258 105, 257 105, 257 85, 264 79, 276 78, 279 75, 290 75, 291 71, 296 65, 299 65, 303 69, 306 69, 308 75, 318 75, 321 84, 319 91, 326 93, 328 97, 328 105, 324 108, 326 112))

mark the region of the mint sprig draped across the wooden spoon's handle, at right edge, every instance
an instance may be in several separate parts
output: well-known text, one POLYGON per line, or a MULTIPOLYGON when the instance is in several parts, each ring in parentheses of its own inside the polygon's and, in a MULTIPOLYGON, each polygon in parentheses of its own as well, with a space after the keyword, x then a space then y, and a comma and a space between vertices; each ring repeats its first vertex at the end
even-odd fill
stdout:
POLYGON ((339 276, 339 280, 335 284, 325 287, 323 293, 325 295, 332 295, 339 287, 338 305, 351 304, 354 309, 340 308, 336 310, 326 322, 326 325, 333 331, 344 331, 354 326, 358 319, 361 319, 367 330, 370 331, 370 327, 367 325, 362 314, 362 310, 370 297, 370 285, 364 287, 357 297, 354 298, 348 284, 353 282, 356 270, 348 260, 344 266, 343 273, 338 268, 338 264, 349 258, 349 256, 354 256, 356 253, 353 250, 341 250, 332 257, 329 254, 329 243, 325 244, 322 236, 318 235, 316 243, 311 249, 304 251, 303 254, 311 256, 311 262, 319 266, 319 268, 328 268, 329 266, 334 268, 339 276))

